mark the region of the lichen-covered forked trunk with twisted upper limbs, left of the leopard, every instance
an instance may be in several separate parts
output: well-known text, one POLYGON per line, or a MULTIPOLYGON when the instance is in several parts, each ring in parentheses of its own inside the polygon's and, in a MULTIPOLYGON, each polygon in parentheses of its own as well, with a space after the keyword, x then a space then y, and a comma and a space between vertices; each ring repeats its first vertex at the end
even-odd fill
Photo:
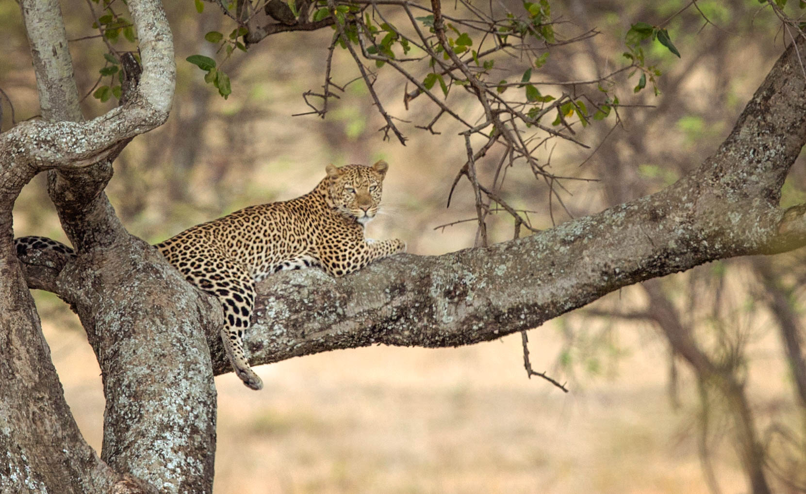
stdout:
POLYGON ((103 193, 123 145, 168 117, 176 68, 164 11, 154 0, 128 2, 143 61, 139 84, 123 106, 81 122, 59 2, 21 7, 43 119, 0 135, 0 491, 210 492, 215 390, 204 328, 222 316, 127 233, 103 193), (64 403, 15 261, 11 208, 45 170, 78 252, 49 282, 79 314, 102 368, 100 458, 64 403))

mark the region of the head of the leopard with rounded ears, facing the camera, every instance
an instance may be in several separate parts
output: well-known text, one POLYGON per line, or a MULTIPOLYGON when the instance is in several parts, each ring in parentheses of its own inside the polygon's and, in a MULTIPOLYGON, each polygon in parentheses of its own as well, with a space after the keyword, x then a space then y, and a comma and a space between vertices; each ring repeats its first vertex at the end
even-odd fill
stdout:
POLYGON ((341 168, 328 164, 328 192, 334 209, 347 218, 365 225, 375 217, 380 193, 389 165, 380 160, 372 166, 348 164, 341 168))

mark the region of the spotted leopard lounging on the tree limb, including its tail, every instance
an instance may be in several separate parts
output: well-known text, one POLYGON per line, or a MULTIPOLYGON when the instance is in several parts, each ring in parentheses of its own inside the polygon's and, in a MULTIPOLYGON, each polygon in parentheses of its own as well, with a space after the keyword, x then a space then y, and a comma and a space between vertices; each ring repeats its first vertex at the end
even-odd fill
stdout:
MULTIPOLYGON (((341 277, 377 259, 403 252, 401 239, 367 239, 364 227, 376 217, 388 164, 328 164, 309 193, 288 201, 251 205, 191 226, 154 247, 185 280, 218 298, 224 350, 235 375, 248 388, 263 381, 252 370, 243 338, 251 326, 256 283, 289 269, 320 268, 341 277)), ((18 255, 29 248, 73 249, 45 237, 15 239, 18 255)))

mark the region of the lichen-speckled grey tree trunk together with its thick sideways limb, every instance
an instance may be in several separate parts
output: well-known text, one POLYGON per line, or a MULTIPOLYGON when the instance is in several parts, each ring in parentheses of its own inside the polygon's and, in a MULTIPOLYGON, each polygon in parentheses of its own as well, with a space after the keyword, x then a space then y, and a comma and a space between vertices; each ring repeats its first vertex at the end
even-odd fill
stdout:
MULTIPOLYGON (((103 193, 120 149, 168 116, 175 67, 164 12, 156 0, 129 0, 139 82, 122 106, 83 121, 58 2, 21 7, 44 118, 0 135, 0 492, 210 492, 213 376, 231 372, 218 338, 221 311, 129 235, 103 193), (39 172, 48 172, 76 259, 17 259, 11 209, 39 172), (98 357, 100 455, 64 403, 29 287, 73 307, 98 357)), ((798 43, 806 52, 806 41, 798 43)), ((659 193, 525 239, 396 255, 338 280, 318 270, 270 276, 247 334, 252 364, 373 343, 482 342, 642 280, 803 246, 806 205, 779 208, 806 143, 801 66, 788 48, 713 156, 659 193)))

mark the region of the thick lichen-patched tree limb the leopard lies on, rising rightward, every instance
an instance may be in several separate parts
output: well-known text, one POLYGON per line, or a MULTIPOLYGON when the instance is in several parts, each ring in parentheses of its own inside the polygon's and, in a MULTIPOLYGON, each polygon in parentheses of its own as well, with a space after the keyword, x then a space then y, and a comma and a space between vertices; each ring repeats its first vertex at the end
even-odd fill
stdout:
MULTIPOLYGON (((778 207, 806 143, 799 67, 790 47, 717 152, 659 193, 525 239, 396 255, 339 280, 313 270, 270 276, 259 284, 247 338, 252 363, 373 343, 447 347, 500 338, 642 280, 803 246, 806 207, 778 207)), ((216 331, 208 334, 214 367, 229 372, 216 331)))

